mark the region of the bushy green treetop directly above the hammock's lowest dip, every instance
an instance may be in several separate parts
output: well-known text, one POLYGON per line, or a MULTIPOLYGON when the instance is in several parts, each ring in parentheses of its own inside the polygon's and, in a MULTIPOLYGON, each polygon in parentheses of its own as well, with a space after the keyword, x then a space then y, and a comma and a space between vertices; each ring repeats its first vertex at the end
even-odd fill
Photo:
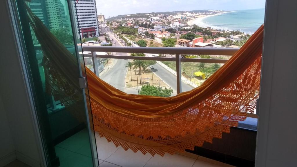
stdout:
POLYGON ((139 91, 142 95, 160 96, 160 97, 170 97, 173 93, 172 89, 162 89, 161 87, 156 87, 153 85, 143 85, 139 91))

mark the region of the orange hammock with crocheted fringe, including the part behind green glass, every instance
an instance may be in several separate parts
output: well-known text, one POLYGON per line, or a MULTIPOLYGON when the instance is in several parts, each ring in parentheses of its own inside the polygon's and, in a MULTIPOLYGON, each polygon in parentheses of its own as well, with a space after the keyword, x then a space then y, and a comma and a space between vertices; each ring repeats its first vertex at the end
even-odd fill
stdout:
MULTIPOLYGON (((75 106, 82 100, 75 78, 77 59, 29 8, 28 13, 44 53, 46 89, 80 119, 82 112, 75 106)), ((255 110, 262 38, 263 25, 201 86, 174 97, 126 94, 86 68, 95 131, 125 150, 161 156, 221 138, 255 110)))

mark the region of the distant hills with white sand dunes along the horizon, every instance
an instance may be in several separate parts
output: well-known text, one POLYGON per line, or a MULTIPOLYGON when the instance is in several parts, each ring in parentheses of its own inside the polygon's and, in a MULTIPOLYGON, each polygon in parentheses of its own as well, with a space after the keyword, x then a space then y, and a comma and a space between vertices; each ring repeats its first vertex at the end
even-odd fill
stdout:
POLYGON ((197 15, 198 13, 203 14, 216 14, 220 12, 225 12, 222 10, 191 10, 191 11, 174 11, 174 12, 151 12, 151 13, 135 13, 135 14, 127 14, 127 15, 118 15, 107 20, 112 21, 121 18, 150 18, 156 17, 157 15, 197 15))

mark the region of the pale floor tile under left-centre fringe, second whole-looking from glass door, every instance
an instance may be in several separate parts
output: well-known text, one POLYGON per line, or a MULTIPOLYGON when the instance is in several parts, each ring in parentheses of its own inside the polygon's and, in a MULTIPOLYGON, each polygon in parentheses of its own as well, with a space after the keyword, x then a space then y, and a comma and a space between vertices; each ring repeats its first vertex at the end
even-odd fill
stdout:
POLYGON ((124 167, 142 167, 151 159, 151 157, 152 155, 149 153, 143 155, 140 151, 136 153, 133 152, 131 149, 125 151, 121 147, 105 161, 124 167))

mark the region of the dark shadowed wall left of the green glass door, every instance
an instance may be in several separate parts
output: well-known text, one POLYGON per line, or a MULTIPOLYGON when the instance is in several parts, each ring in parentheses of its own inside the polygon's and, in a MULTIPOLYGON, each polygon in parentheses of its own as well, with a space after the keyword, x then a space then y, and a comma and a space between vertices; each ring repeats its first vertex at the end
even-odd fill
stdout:
POLYGON ((0 2, 0 15, 0 94, 2 97, 0 117, 4 116, 1 117, 1 124, 5 126, 3 130, 1 129, 0 143, 1 146, 6 145, 5 152, 0 149, 0 156, 5 156, 14 149, 17 159, 30 166, 40 166, 42 159, 40 145, 33 124, 30 100, 6 0, 0 2), (2 119, 6 121, 2 122, 2 119), (5 134, 10 133, 12 139, 2 140, 4 137, 2 131, 5 134))

